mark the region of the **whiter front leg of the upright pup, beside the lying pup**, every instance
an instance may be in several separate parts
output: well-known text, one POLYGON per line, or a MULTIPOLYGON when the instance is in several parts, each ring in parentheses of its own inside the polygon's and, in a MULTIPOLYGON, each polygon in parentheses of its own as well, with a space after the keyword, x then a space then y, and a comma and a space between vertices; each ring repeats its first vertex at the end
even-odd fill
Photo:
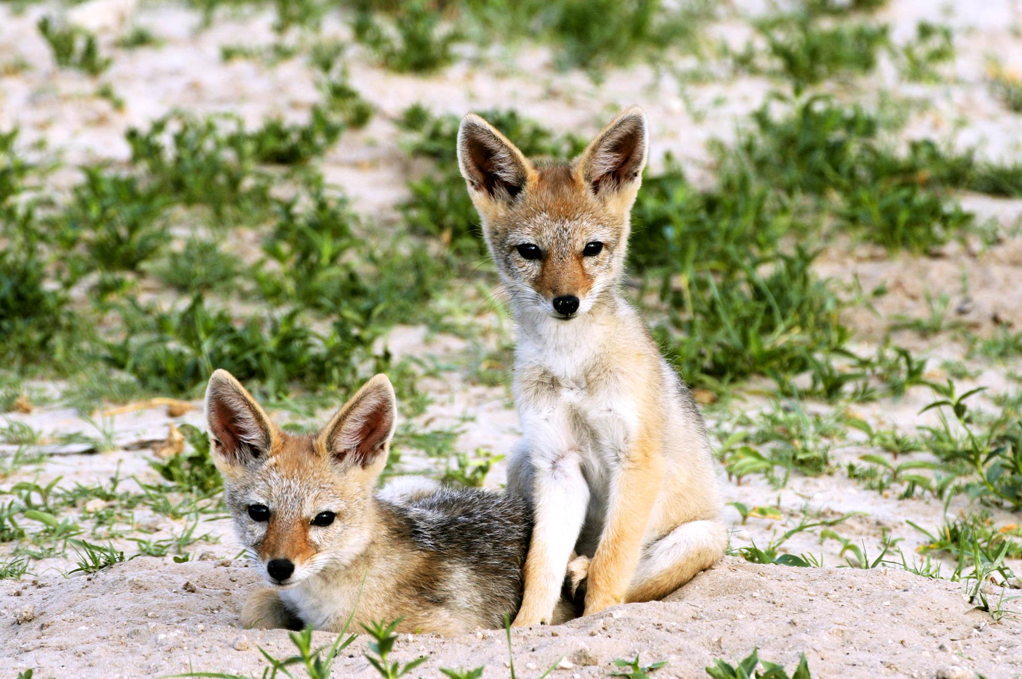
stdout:
POLYGON ((576 450, 532 457, 532 539, 525 556, 525 593, 515 627, 553 620, 564 572, 589 504, 589 485, 576 450))

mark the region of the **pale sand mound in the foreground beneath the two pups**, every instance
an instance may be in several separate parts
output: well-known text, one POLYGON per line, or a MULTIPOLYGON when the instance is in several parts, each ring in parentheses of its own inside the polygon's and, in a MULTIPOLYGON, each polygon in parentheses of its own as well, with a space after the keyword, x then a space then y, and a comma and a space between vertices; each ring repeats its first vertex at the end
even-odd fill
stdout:
MULTIPOLYGON (((282 630, 237 628, 256 583, 241 561, 170 563, 140 557, 92 576, 0 583, 5 676, 142 677, 214 671, 258 676, 257 649, 290 655, 282 630)), ((331 636, 320 634, 323 643, 331 636)), ((667 660, 654 677, 705 677, 713 658, 790 664, 804 651, 816 677, 1022 676, 1022 622, 993 623, 963 601, 959 585, 901 571, 797 569, 727 558, 664 601, 630 604, 556 628, 515 631, 520 677, 560 657, 554 677, 605 676, 617 658, 667 660), (958 667, 968 668, 961 673, 958 667)), ((372 677, 360 639, 335 677, 372 677)), ((442 639, 403 635, 396 658, 428 653, 416 674, 485 665, 507 676, 503 632, 442 639)))

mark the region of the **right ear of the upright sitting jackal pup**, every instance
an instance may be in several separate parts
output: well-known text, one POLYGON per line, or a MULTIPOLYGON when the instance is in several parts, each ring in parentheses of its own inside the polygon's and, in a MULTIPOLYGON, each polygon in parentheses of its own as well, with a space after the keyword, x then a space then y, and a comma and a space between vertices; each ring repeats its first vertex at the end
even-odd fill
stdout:
POLYGON ((622 111, 575 160, 579 179, 597 196, 639 190, 649 152, 646 115, 639 106, 622 111))

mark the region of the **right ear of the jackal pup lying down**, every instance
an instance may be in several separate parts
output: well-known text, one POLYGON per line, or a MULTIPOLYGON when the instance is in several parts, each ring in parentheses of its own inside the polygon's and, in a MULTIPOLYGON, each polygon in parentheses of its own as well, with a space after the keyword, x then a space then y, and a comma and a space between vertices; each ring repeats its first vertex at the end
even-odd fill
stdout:
POLYGON ((393 387, 386 375, 378 374, 323 427, 319 444, 335 462, 367 469, 375 478, 386 464, 397 419, 393 387))

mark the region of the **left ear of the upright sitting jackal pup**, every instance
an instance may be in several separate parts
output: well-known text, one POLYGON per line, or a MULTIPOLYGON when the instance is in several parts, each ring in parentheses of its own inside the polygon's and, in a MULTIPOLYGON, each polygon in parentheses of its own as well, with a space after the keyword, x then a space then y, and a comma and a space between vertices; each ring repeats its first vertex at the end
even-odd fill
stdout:
POLYGON ((474 114, 461 119, 458 128, 458 167, 473 200, 509 202, 535 173, 514 144, 474 114))

